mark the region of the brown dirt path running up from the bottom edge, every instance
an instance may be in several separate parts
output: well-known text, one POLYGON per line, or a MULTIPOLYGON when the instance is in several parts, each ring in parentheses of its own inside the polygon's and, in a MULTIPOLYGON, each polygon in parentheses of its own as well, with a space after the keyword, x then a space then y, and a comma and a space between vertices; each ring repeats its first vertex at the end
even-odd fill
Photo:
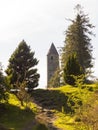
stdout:
POLYGON ((39 106, 37 107, 40 111, 35 116, 35 119, 33 118, 22 130, 32 130, 39 123, 45 124, 49 130, 60 130, 53 125, 53 121, 55 120, 53 111, 42 109, 42 107, 39 106))

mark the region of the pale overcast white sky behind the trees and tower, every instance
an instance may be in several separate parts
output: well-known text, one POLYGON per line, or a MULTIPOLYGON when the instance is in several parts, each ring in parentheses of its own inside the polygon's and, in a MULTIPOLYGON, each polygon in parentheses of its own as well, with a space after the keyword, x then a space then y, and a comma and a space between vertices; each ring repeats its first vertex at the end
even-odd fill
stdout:
POLYGON ((35 51, 39 60, 40 87, 47 82, 46 55, 53 42, 56 47, 64 45, 64 31, 73 19, 74 7, 81 4, 96 26, 94 47, 95 73, 98 76, 98 7, 97 0, 0 0, 0 62, 6 69, 8 59, 18 44, 24 39, 35 51))

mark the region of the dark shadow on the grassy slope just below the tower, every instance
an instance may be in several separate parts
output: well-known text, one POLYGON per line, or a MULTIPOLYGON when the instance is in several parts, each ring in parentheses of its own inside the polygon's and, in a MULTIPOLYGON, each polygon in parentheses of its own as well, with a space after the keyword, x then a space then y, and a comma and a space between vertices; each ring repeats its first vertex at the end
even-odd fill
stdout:
POLYGON ((71 107, 67 104, 68 95, 58 90, 37 89, 32 92, 32 97, 43 109, 56 109, 65 113, 72 112, 71 107))

